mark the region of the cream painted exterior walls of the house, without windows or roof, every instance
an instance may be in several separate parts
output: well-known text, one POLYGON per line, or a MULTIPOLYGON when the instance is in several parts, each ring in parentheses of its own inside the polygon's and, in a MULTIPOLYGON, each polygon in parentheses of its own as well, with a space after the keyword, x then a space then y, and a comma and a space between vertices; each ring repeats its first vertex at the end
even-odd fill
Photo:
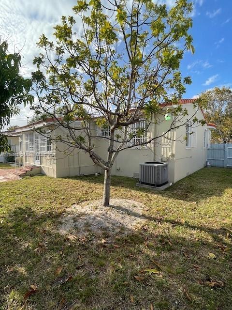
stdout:
MULTIPOLYGON (((203 137, 207 125, 200 125, 197 127, 196 142, 194 146, 187 148, 186 141, 184 141, 184 137, 186 136, 186 126, 184 123, 187 118, 194 115, 195 110, 192 104, 185 104, 184 108, 188 110, 188 116, 178 121, 179 124, 183 123, 180 128, 172 131, 169 131, 173 121, 172 119, 165 120, 164 115, 156 116, 153 119, 154 122, 152 122, 147 130, 147 137, 148 139, 154 137, 158 138, 148 146, 141 148, 133 147, 119 152, 112 168, 112 175, 139 177, 140 163, 162 160, 167 161, 169 164, 169 182, 175 183, 188 174, 203 168, 207 151, 207 148, 204 148, 203 145, 203 137), (165 137, 163 137, 164 134, 165 137)), ((196 117, 198 119, 203 119, 201 110, 197 111, 196 117)), ((91 122, 90 126, 91 130, 94 132, 96 123, 91 122)), ((52 129, 52 139, 58 136, 62 136, 63 139, 68 139, 69 133, 63 127, 52 127, 52 125, 49 125, 49 128, 52 129)), ((28 130, 28 132, 29 131, 30 130, 28 130)), ((33 165, 35 164, 34 152, 25 155, 25 134, 26 132, 22 133, 24 163, 33 165)), ((94 151, 105 160, 108 146, 109 140, 103 138, 94 139, 94 151)), ((56 145, 53 143, 51 153, 53 155, 41 155, 40 158, 41 171, 48 176, 59 178, 104 172, 93 163, 88 153, 68 147, 63 142, 56 142, 56 145)))

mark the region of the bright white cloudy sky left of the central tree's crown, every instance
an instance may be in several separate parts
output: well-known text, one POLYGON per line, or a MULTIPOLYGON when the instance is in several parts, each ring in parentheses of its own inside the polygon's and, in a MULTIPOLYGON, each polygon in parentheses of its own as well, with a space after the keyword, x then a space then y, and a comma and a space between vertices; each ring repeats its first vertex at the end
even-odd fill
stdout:
MULTIPOLYGON (((40 35, 44 33, 51 39, 61 16, 74 16, 75 4, 75 0, 0 0, 0 38, 8 40, 10 52, 21 50, 24 77, 30 77, 36 69, 32 61, 40 53, 36 46, 40 35)), ((10 124, 23 126, 27 124, 27 116, 31 117, 32 112, 22 106, 21 113, 10 124)))

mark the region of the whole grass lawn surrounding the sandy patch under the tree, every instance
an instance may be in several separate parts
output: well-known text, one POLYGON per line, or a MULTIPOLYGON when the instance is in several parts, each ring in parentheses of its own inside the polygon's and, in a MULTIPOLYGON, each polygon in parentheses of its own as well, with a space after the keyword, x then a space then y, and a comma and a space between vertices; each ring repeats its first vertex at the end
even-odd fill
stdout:
POLYGON ((0 310, 231 310, 232 170, 203 169, 161 193, 113 177, 112 197, 143 202, 146 225, 105 244, 61 236, 59 217, 100 199, 102 180, 0 184, 0 310))

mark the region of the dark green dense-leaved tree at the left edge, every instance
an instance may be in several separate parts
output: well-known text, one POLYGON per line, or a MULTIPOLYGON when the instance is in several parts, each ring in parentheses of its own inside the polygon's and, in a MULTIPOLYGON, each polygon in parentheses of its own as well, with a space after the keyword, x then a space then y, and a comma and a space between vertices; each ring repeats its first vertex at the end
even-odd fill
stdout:
MULTIPOLYGON (((0 130, 10 123, 13 115, 19 113, 20 104, 33 102, 33 96, 29 94, 31 79, 23 78, 19 73, 21 56, 7 50, 7 42, 0 42, 0 130)), ((0 152, 8 150, 7 137, 0 134, 0 152)))

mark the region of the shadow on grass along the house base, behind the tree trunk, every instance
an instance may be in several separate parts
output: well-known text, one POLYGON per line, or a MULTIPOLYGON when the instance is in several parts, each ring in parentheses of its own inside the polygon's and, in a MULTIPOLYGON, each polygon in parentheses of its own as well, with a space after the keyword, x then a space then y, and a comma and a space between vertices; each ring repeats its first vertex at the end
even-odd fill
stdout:
MULTIPOLYGON (((93 184, 102 184, 103 186, 103 175, 97 177, 93 175, 77 176, 71 179, 82 180, 93 184)), ((161 197, 174 198, 186 202, 201 202, 213 196, 220 197, 226 189, 232 188, 232 169, 203 168, 178 181, 162 192, 138 187, 136 186, 137 182, 138 179, 113 176, 111 186, 125 187, 141 193, 154 193, 154 195, 161 197)))

